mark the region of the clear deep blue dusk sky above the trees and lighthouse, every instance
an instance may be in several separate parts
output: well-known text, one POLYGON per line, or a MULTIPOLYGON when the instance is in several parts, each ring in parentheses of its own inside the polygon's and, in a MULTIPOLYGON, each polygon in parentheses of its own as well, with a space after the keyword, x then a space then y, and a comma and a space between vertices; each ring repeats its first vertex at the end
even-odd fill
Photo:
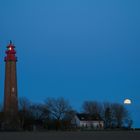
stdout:
POLYGON ((0 0, 0 101, 5 49, 17 50, 18 96, 123 103, 140 127, 140 0, 0 0))

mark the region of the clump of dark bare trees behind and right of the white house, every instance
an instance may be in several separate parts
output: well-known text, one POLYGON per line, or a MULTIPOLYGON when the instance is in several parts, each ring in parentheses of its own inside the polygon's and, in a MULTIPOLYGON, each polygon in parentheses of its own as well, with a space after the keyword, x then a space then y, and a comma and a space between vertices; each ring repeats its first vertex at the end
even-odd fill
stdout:
MULTIPOLYGON (((96 101, 85 101, 82 109, 84 113, 102 117, 105 128, 121 128, 124 127, 126 120, 131 120, 128 115, 128 110, 122 104, 118 103, 106 102, 102 104, 96 101)), ((129 127, 130 124, 128 123, 129 127)))

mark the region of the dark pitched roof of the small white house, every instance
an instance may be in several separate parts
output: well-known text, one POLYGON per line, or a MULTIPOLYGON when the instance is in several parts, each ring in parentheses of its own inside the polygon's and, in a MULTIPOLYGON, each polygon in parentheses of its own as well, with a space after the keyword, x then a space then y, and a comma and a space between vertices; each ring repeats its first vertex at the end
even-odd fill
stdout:
POLYGON ((80 121, 102 121, 102 118, 100 117, 99 114, 90 115, 86 113, 78 113, 76 114, 76 116, 80 121))

